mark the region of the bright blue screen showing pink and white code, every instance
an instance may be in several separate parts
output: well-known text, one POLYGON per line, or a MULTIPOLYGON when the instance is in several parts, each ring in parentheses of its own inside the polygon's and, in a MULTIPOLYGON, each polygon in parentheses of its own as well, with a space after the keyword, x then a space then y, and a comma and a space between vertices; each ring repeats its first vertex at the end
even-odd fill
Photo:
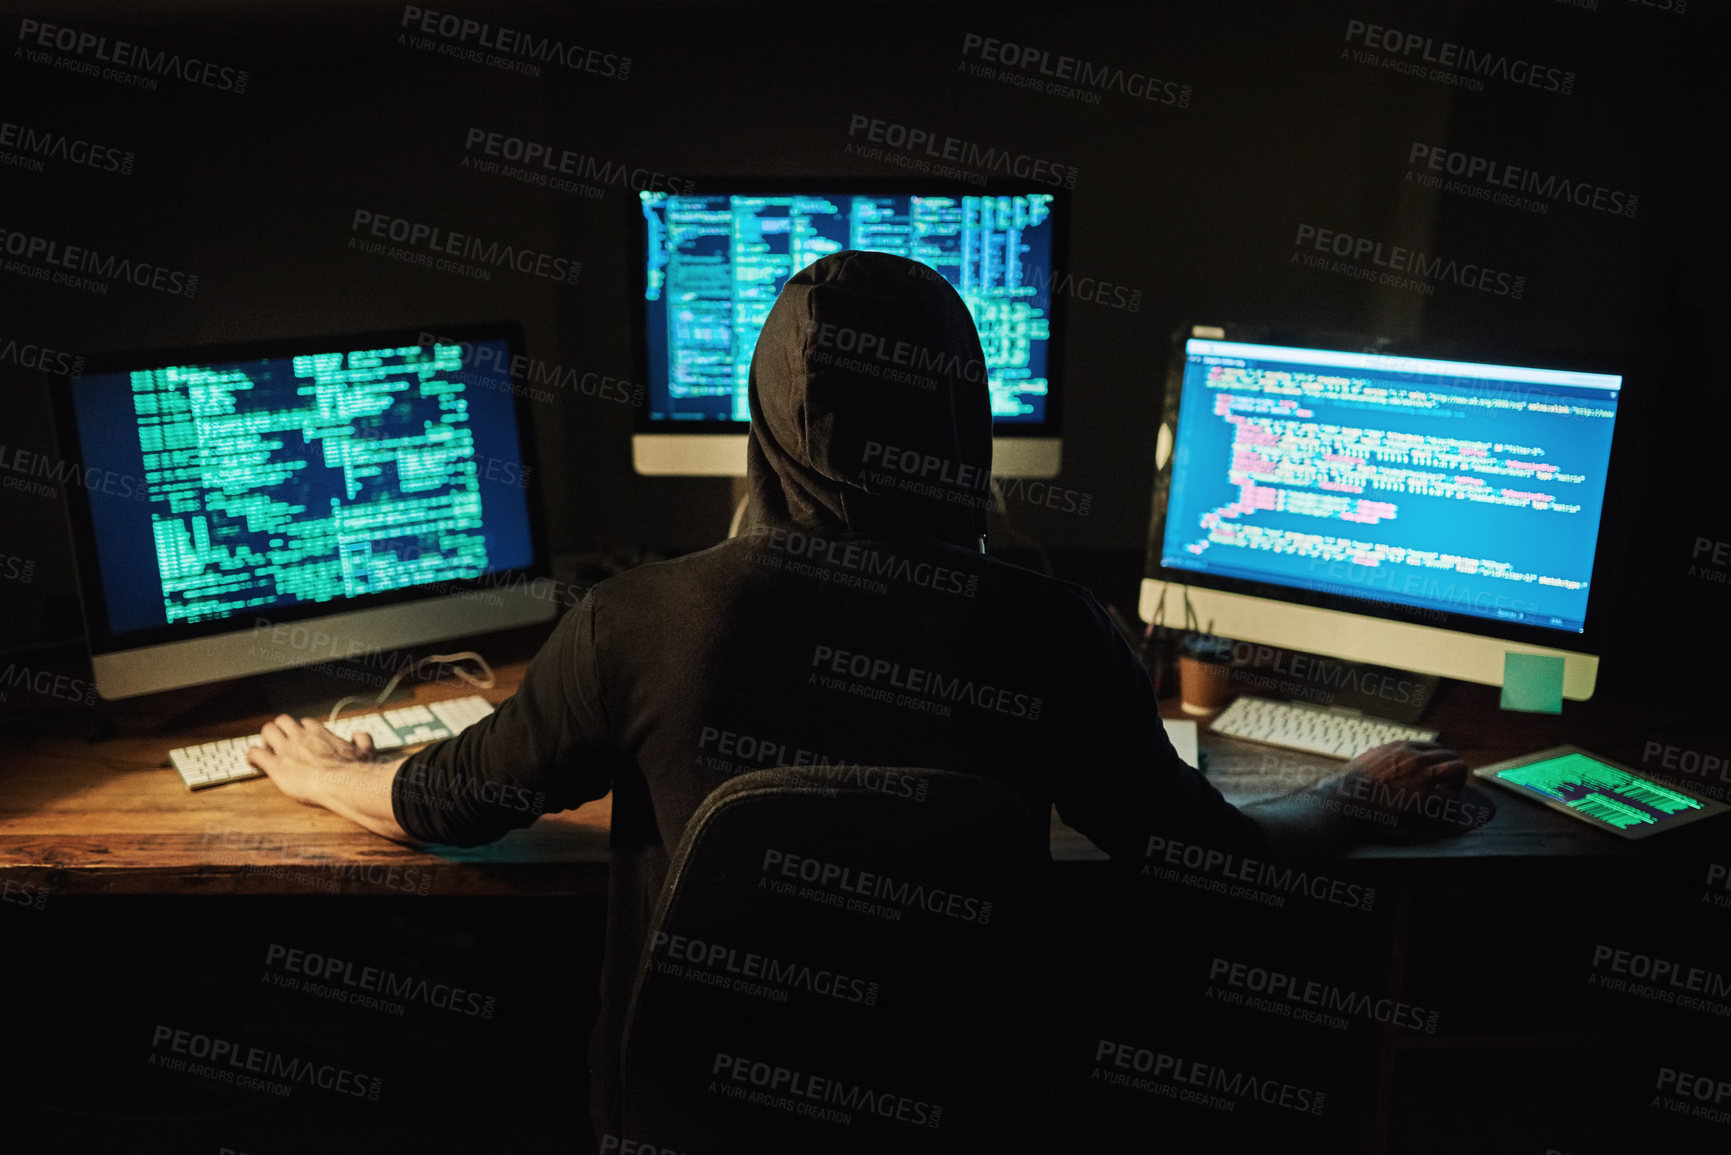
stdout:
POLYGON ((1620 388, 1191 338, 1162 566, 1580 634, 1620 388))

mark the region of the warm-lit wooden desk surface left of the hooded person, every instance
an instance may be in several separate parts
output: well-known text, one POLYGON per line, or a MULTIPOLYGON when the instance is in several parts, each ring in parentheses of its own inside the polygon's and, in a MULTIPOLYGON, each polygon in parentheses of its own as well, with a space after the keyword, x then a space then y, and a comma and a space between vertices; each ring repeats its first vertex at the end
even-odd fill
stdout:
MULTIPOLYGON (((524 667, 497 667, 488 691, 419 684, 414 701, 481 693, 499 703, 524 667)), ((258 731, 270 717, 0 748, 0 878, 52 894, 602 894, 611 795, 486 847, 426 854, 291 802, 263 778, 192 793, 166 765, 175 746, 258 731)))

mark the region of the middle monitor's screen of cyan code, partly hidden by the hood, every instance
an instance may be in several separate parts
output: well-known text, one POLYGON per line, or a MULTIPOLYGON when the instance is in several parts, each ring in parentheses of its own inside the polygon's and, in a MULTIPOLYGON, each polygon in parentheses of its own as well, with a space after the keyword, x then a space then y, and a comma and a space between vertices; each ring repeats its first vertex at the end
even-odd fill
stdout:
POLYGON ((1052 421, 1054 194, 640 192, 646 423, 751 419, 751 353, 788 277, 841 249, 895 253, 950 282, 985 350, 994 423, 1052 421))

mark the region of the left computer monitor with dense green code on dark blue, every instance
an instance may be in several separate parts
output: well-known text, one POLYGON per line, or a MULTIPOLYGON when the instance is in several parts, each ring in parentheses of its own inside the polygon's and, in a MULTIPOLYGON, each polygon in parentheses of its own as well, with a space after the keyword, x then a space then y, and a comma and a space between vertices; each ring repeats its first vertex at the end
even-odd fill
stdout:
POLYGON ((554 616, 521 334, 436 331, 95 355, 57 381, 100 696, 554 616))

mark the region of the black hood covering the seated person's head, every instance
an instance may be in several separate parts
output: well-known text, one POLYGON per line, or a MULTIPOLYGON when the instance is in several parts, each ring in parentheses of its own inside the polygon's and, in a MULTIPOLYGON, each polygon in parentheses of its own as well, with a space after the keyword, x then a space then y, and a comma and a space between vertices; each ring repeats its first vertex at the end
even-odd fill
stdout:
POLYGON ((936 272, 845 249, 788 279, 751 355, 758 525, 978 549, 992 397, 968 305, 936 272))

